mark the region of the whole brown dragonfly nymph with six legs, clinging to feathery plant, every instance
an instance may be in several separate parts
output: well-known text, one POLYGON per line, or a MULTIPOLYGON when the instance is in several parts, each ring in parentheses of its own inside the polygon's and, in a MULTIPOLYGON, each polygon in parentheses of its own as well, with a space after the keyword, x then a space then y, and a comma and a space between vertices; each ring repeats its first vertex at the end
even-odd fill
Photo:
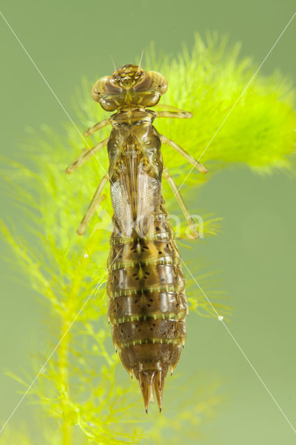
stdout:
POLYGON ((122 364, 140 382, 146 412, 154 390, 161 410, 165 376, 179 361, 188 314, 186 280, 161 195, 162 177, 172 187, 192 237, 198 237, 174 179, 163 165, 161 144, 176 149, 197 170, 206 172, 201 163, 153 126, 155 118, 192 116, 172 106, 163 106, 167 111, 149 109, 166 90, 162 74, 145 72, 138 65, 124 65, 112 76, 99 79, 92 88, 93 99, 104 110, 116 112, 85 131, 85 136, 110 124, 110 137, 81 154, 66 170, 72 173, 107 146, 108 175, 101 179, 77 232, 83 234, 110 181, 114 215, 106 287, 108 317, 122 364))

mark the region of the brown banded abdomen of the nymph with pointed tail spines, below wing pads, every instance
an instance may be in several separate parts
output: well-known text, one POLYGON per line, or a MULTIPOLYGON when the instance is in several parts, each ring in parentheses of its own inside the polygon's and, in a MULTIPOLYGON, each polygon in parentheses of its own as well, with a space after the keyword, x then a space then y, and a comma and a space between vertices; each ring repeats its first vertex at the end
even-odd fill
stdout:
POLYGON ((149 239, 125 238, 115 222, 110 244, 107 293, 113 343, 126 370, 140 381, 146 410, 153 388, 161 408, 167 370, 173 371, 186 339, 188 313, 186 281, 164 205, 149 239))

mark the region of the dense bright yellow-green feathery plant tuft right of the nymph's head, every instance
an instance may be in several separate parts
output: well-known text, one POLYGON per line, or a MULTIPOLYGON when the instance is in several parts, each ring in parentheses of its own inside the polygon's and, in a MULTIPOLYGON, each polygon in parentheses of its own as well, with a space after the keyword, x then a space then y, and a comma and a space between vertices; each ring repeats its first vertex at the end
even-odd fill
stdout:
MULTIPOLYGON (((197 159, 256 72, 257 66, 249 58, 238 59, 239 49, 239 44, 227 48, 227 40, 218 40, 217 36, 208 38, 207 43, 197 36, 192 52, 185 49, 178 60, 164 58, 154 65, 152 57, 147 63, 156 66, 169 82, 162 102, 193 113, 188 121, 172 124, 159 120, 158 131, 197 159)), ((201 162, 210 172, 202 178, 211 177, 211 172, 223 168, 224 163, 246 163, 260 172, 290 169, 294 129, 290 81, 279 73, 265 78, 258 72, 202 154, 201 162)), ((180 157, 173 156, 172 149, 170 156, 165 156, 167 165, 179 174, 177 165, 184 163, 180 157)), ((195 184, 197 177, 192 172, 186 184, 195 184)))

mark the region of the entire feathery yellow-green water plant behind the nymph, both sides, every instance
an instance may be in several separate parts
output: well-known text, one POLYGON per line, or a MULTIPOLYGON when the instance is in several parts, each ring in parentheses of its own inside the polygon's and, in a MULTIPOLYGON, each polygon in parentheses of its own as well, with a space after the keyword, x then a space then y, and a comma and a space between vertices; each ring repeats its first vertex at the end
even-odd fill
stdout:
MULTIPOLYGON (((144 68, 158 70, 167 77, 169 90, 162 102, 191 111, 194 117, 159 119, 156 128, 198 159, 256 66, 249 59, 239 61, 238 47, 228 49, 226 42, 217 38, 206 44, 197 37, 191 53, 184 50, 178 59, 160 60, 151 51, 144 68)), ((92 82, 83 81, 75 101, 74 121, 79 122, 81 132, 108 115, 91 99, 91 86, 92 82)), ((264 79, 259 73, 202 155, 208 174, 194 170, 190 173, 182 188, 185 197, 188 186, 204 184, 213 172, 230 163, 243 162, 258 172, 291 170, 295 126, 291 102, 288 81, 280 74, 264 79)), ((17 257, 17 270, 23 270, 26 281, 47 300, 50 332, 55 333, 38 358, 36 373, 71 327, 31 391, 46 414, 42 443, 163 444, 163 435, 171 435, 168 443, 173 444, 174 440, 180 443, 186 437, 196 438, 199 424, 212 416, 220 401, 216 385, 197 375, 189 383, 190 373, 167 378, 163 412, 159 415, 152 408, 146 416, 138 382, 129 380, 113 352, 104 291, 112 216, 107 188, 101 209, 85 236, 76 235, 104 175, 101 165, 108 168, 107 154, 103 150, 97 155, 101 165, 92 159, 73 175, 65 175, 65 167, 83 147, 72 124, 67 124, 66 129, 64 138, 47 127, 42 129, 41 136, 32 133, 23 154, 30 156, 33 168, 10 162, 4 172, 8 193, 22 207, 28 241, 4 224, 3 236, 17 257)), ((95 133, 89 143, 106 138, 109 132, 107 128, 95 133)), ((181 184, 191 166, 171 148, 163 147, 163 156, 170 173, 181 184)), ((168 208, 175 209, 177 204, 170 199, 172 193, 167 186, 163 193, 168 208)), ((216 232, 216 221, 209 219, 205 234, 216 232)), ((217 297, 204 287, 208 277, 195 276, 210 299, 217 297)), ((191 309, 215 315, 202 293, 194 289, 188 298, 191 309)), ((227 312, 227 307, 217 302, 215 305, 218 312, 227 312)), ((31 380, 28 378, 25 385, 31 380)), ((0 444, 9 443, 10 437, 17 437, 17 433, 8 428, 0 437, 0 444)), ((33 442, 22 439, 22 443, 33 442)))

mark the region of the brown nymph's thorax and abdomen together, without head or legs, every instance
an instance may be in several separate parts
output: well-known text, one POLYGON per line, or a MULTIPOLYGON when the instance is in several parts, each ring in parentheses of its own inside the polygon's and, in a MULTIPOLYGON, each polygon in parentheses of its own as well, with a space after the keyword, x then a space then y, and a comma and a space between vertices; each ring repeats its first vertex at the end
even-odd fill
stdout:
POLYGON ((176 366, 186 339, 188 305, 181 259, 161 196, 161 140, 153 119, 151 111, 112 118, 108 154, 115 216, 107 293, 113 342, 124 367, 140 383, 144 375, 154 387, 159 381, 161 396, 167 369, 176 366), (123 218, 124 212, 129 218, 123 218))

